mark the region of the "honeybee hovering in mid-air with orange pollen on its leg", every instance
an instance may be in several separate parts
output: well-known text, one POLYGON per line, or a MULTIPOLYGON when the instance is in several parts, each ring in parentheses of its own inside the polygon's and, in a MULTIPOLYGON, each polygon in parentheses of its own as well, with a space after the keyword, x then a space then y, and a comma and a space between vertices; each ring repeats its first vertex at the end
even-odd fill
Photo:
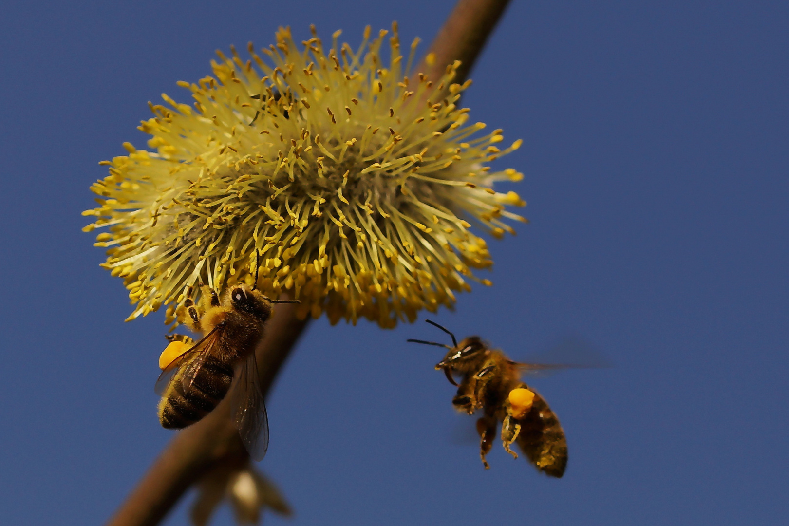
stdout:
POLYGON ((564 431, 544 399, 521 381, 521 371, 566 366, 520 364, 498 349, 489 349, 478 336, 463 338, 458 344, 449 330, 429 319, 425 321, 449 334, 453 346, 413 338, 408 341, 449 349, 447 356, 436 364, 436 370, 443 370, 447 379, 458 386, 458 394, 452 399, 452 405, 458 411, 473 415, 477 409, 482 409, 483 415, 477 420, 477 432, 481 438, 480 456, 485 468, 490 468, 485 457, 490 453, 496 427, 501 422, 501 440, 507 453, 518 458, 518 453, 510 449, 513 442, 518 442, 529 462, 537 469, 550 476, 561 477, 567 466, 564 431), (459 384, 454 374, 462 376, 459 384))

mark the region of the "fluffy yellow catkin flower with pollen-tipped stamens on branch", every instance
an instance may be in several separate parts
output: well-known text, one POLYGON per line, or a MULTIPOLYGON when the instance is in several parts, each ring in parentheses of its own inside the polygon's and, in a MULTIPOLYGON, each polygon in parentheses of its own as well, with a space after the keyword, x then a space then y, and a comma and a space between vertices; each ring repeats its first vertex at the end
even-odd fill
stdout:
POLYGON ((435 82, 405 76, 418 39, 403 65, 396 24, 388 65, 386 31, 371 40, 368 27, 357 50, 312 34, 299 47, 281 28, 267 62, 252 44, 251 60, 219 53, 213 76, 178 83, 193 106, 151 105, 140 129, 155 152, 125 143, 129 155, 104 162, 85 230, 110 229, 96 245, 125 279, 129 319, 170 304, 172 323, 194 285, 251 283, 259 263, 260 289, 300 299, 301 316, 391 327, 451 307, 470 269, 490 267, 469 222, 501 237, 514 233, 503 218, 524 221, 506 210, 525 204, 518 194, 492 189, 522 174, 485 166, 521 141, 499 149, 500 129, 467 123, 459 62, 435 82))

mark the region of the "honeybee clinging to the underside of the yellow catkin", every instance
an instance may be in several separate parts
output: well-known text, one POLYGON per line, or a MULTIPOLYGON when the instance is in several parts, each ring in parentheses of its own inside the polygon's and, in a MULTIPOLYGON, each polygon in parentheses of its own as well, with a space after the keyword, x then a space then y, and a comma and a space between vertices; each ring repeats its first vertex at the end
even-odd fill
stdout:
POLYGON ((256 285, 245 284, 229 289, 222 300, 208 286, 202 293, 200 305, 187 300, 187 324, 202 338, 195 343, 185 335, 169 336, 170 345, 159 356, 159 421, 169 429, 197 422, 219 404, 236 377, 233 421, 249 456, 260 461, 268 449, 268 419, 255 349, 271 317, 271 304, 298 300, 270 300, 256 285))

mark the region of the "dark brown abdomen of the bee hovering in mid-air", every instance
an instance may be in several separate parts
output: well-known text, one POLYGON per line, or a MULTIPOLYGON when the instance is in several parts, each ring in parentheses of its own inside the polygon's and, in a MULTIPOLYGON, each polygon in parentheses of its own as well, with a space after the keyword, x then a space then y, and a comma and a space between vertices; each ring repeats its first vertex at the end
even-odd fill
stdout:
POLYGON ((521 424, 518 446, 529 462, 550 476, 563 476, 567 467, 567 439, 562 424, 543 397, 534 394, 532 408, 518 423, 521 424))

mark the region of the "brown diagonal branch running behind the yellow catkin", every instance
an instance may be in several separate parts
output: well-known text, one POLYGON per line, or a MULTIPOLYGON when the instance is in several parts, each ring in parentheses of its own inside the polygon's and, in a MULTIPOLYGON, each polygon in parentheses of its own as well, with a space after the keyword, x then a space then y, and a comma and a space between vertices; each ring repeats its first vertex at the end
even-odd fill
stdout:
MULTIPOLYGON (((446 66, 462 61, 455 81, 466 79, 509 0, 459 0, 416 71, 440 78, 446 66)), ((308 320, 299 320, 293 305, 279 305, 257 349, 264 391, 285 363, 308 320)), ((222 401, 200 422, 180 431, 107 523, 108 526, 154 526, 217 462, 245 461, 246 450, 230 421, 230 401, 222 401)))

